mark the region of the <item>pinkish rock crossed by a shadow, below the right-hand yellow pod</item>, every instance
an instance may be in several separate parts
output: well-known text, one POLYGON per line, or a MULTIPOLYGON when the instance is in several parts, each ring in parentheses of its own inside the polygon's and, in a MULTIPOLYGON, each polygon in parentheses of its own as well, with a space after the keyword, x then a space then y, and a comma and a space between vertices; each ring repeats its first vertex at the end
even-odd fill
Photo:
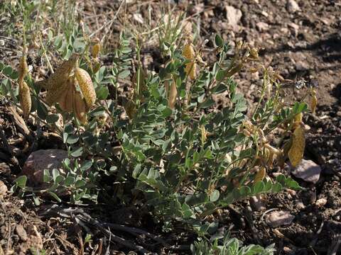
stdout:
POLYGON ((321 167, 312 160, 302 159, 301 163, 293 170, 293 175, 304 181, 317 183, 320 179, 321 167))

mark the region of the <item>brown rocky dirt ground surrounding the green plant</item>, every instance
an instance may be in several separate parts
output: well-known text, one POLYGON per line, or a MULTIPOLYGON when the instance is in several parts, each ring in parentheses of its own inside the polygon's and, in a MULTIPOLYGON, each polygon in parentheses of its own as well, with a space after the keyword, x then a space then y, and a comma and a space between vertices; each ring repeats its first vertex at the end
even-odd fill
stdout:
MULTIPOLYGON (((110 1, 100 3, 97 11, 110 6, 110 1)), ((246 40, 260 47, 260 56, 266 64, 278 69, 285 79, 304 80, 303 88, 289 86, 286 89, 288 102, 301 99, 309 86, 314 86, 317 91, 317 111, 315 114, 305 114, 304 122, 308 128, 305 159, 311 159, 322 167, 319 181, 312 184, 296 179, 305 188, 304 191, 283 191, 264 196, 265 209, 261 211, 249 210, 248 200, 237 203, 224 210, 220 227, 229 229, 232 237, 238 237, 245 244, 266 246, 275 243, 276 254, 341 254, 341 1, 297 0, 297 3, 301 11, 288 11, 286 0, 212 0, 195 1, 195 4, 190 5, 180 1, 176 8, 186 10, 188 16, 193 16, 193 21, 200 26, 202 38, 220 33, 224 40, 231 42, 246 40), (227 6, 242 12, 237 27, 229 25, 227 6), (326 203, 316 203, 323 198, 326 203), (281 227, 269 227, 265 218, 269 210, 274 208, 290 212, 294 216, 293 222, 281 227)), ((141 8, 144 7, 136 8, 133 4, 131 10, 141 8)), ((6 38, 6 34, 1 36, 6 38)), ((11 63, 9 55, 12 54, 7 51, 0 56, 5 62, 11 63)), ((209 56, 203 56, 204 60, 205 57, 209 56)), ((259 100, 256 96, 261 85, 259 74, 242 71, 236 79, 240 91, 252 106, 259 100)), ((224 104, 224 98, 218 98, 217 103, 224 104)), ((7 140, 20 138, 16 133, 20 128, 2 103, 0 123, 7 140)), ((29 149, 21 147, 19 142, 16 146, 14 142, 13 146, 21 151, 16 159, 11 157, 5 147, 0 148, 0 179, 6 186, 11 186, 11 181, 20 172, 30 149, 48 148, 47 139, 43 135, 38 145, 29 149)), ((276 176, 278 171, 274 169, 269 176, 276 176)), ((286 171, 288 174, 289 170, 286 171)), ((156 254, 190 253, 188 244, 193 236, 181 234, 180 227, 178 232, 160 234, 161 227, 153 224, 148 212, 139 212, 136 208, 121 209, 114 205, 101 208, 98 205, 93 208, 81 207, 81 211, 77 211, 80 210, 78 208, 72 216, 67 211, 71 205, 63 205, 66 211, 61 215, 48 210, 51 206, 44 204, 37 208, 33 206, 31 198, 22 200, 11 195, 5 196, 0 208, 0 248, 4 251, 12 250, 12 254, 25 254, 30 242, 41 242, 41 247, 47 249, 49 254, 77 254, 78 249, 91 254, 90 247, 94 246, 97 246, 98 252, 102 246, 109 246, 109 236, 98 229, 98 222, 90 224, 87 227, 94 232, 94 236, 90 244, 85 244, 82 239, 85 237, 84 231, 79 227, 82 226, 79 221, 82 218, 75 217, 78 212, 84 212, 92 217, 101 215, 102 222, 141 227, 150 233, 159 234, 168 243, 168 248, 148 234, 141 237, 127 229, 118 230, 121 236, 148 247, 156 254)), ((115 251, 107 254, 124 254, 129 251, 126 246, 117 243, 112 244, 111 250, 115 251)), ((0 254, 3 254, 1 249, 0 254)))

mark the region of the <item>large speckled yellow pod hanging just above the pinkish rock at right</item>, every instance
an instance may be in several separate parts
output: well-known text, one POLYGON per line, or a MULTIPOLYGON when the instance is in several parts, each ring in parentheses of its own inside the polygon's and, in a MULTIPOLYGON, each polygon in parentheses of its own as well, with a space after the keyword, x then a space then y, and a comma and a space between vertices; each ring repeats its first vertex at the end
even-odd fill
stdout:
POLYGON ((304 148, 305 131, 302 125, 299 125, 296 130, 293 131, 292 144, 288 151, 288 157, 293 167, 296 167, 303 159, 304 148))

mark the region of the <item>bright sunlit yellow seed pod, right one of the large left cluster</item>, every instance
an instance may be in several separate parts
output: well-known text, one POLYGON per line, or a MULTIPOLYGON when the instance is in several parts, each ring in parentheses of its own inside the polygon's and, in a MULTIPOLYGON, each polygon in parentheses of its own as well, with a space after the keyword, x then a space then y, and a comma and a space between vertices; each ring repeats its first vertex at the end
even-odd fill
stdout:
POLYGON ((90 74, 88 74, 84 69, 77 67, 75 70, 75 76, 78 84, 80 85, 80 90, 85 98, 85 102, 87 103, 87 108, 90 109, 96 101, 96 92, 94 91, 90 74))

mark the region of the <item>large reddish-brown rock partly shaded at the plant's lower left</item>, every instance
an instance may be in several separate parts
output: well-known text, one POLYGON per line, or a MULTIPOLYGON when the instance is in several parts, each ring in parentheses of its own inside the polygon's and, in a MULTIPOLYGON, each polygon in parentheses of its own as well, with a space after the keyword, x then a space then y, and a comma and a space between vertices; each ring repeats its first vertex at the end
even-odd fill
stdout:
POLYGON ((51 176, 53 169, 63 172, 61 167, 64 159, 67 159, 67 152, 63 149, 40 149, 31 153, 21 174, 26 175, 33 185, 42 184, 44 169, 50 171, 51 176))

